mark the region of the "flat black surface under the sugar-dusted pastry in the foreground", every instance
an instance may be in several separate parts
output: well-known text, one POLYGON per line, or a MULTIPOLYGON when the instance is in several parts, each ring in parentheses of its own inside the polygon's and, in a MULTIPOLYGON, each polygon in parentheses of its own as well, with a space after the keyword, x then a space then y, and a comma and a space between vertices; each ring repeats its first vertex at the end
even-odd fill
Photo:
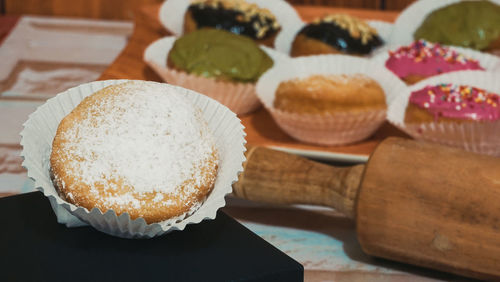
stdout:
POLYGON ((154 239, 58 224, 33 192, 0 199, 0 281, 302 281, 303 267, 219 211, 154 239))

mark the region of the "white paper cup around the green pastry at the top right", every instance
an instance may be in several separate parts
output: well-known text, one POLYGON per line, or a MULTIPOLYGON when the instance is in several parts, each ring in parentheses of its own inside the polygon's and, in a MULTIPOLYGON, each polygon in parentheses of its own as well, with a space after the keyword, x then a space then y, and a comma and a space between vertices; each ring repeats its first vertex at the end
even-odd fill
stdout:
MULTIPOLYGON (((500 5, 500 0, 490 1, 500 5)), ((410 44, 414 40, 413 34, 430 13, 458 2, 461 0, 419 0, 414 2, 396 19, 389 42, 399 45, 410 44)))

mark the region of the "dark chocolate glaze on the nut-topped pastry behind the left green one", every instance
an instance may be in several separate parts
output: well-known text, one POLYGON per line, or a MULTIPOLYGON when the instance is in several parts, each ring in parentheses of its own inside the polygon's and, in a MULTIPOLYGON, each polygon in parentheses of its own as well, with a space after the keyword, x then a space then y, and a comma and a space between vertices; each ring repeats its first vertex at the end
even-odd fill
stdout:
POLYGON ((243 17, 243 13, 236 10, 224 9, 223 7, 213 8, 207 5, 191 5, 188 9, 198 28, 212 27, 223 29, 235 34, 245 35, 253 39, 266 39, 277 32, 273 28, 271 19, 262 20, 259 15, 250 18, 249 21, 238 20, 243 17), (260 38, 257 37, 258 30, 254 24, 267 26, 269 29, 260 38))

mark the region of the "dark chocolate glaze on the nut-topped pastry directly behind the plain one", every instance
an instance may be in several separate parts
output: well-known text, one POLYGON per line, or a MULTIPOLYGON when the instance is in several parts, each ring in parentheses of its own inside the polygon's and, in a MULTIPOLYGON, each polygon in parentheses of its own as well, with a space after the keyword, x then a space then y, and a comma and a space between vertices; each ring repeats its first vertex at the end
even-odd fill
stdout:
POLYGON ((334 22, 308 24, 299 33, 348 54, 370 54, 373 49, 383 44, 378 35, 374 35, 366 44, 363 44, 361 38, 352 37, 348 30, 341 28, 334 22))

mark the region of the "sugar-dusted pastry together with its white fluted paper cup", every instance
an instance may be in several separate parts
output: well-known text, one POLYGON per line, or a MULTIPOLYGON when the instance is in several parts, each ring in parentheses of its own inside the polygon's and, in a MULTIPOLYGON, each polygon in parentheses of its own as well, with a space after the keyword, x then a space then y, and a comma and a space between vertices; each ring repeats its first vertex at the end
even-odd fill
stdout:
POLYGON ((150 238, 215 217, 241 170, 243 135, 235 115, 203 95, 99 81, 30 116, 23 165, 59 222, 150 238))

